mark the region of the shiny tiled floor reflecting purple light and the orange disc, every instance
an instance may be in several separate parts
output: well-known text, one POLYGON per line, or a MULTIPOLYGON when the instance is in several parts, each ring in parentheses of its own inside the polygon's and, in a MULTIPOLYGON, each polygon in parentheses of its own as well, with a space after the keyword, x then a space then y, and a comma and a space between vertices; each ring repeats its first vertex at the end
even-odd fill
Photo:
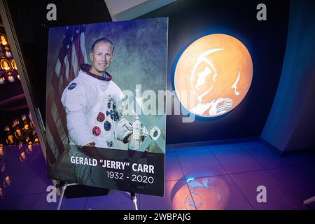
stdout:
MULTIPOLYGON (((0 209, 57 209, 46 200, 52 182, 41 148, 25 162, 16 159, 16 151, 6 146, 11 183, 3 188, 0 209)), ((178 148, 167 151, 165 174, 165 197, 137 195, 139 209, 315 209, 315 203, 302 203, 315 196, 315 153, 281 157, 259 141, 178 148), (257 201, 258 186, 265 186, 267 202, 257 201)), ((134 205, 127 193, 111 190, 107 196, 65 198, 61 209, 134 205)))

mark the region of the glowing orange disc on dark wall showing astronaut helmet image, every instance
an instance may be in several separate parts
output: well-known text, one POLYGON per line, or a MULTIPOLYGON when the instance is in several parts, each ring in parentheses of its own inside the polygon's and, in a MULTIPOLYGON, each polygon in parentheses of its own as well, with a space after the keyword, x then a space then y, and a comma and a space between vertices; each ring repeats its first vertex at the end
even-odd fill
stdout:
POLYGON ((253 62, 246 47, 232 36, 212 34, 186 48, 176 65, 176 95, 191 113, 216 117, 228 113, 246 96, 253 62))

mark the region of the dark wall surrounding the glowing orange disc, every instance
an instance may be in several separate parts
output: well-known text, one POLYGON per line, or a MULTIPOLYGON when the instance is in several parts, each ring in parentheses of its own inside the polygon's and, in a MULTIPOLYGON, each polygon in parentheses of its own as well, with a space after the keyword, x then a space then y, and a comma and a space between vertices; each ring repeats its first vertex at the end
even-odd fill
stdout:
POLYGON ((253 60, 253 81, 243 102, 219 118, 197 118, 182 123, 182 116, 167 116, 167 144, 259 137, 274 100, 281 75, 288 28, 288 1, 263 1, 267 21, 256 19, 262 1, 180 0, 141 18, 169 18, 168 89, 181 52, 209 34, 228 34, 239 39, 253 60))

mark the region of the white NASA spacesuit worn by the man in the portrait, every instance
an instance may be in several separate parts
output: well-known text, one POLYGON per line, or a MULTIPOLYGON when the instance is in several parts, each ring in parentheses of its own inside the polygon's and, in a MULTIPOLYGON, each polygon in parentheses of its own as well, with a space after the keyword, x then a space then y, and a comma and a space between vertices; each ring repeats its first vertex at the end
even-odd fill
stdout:
POLYGON ((70 144, 80 148, 94 142, 97 148, 113 148, 114 139, 127 143, 132 125, 120 116, 120 87, 107 72, 104 77, 94 75, 89 64, 80 69, 62 94, 70 144))

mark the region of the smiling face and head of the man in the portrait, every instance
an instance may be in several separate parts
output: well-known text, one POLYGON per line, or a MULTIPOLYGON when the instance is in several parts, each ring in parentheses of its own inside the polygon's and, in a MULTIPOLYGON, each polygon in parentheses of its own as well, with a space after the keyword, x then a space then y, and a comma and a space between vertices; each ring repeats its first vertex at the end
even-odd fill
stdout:
POLYGON ((93 52, 90 52, 92 68, 90 71, 98 76, 103 76, 113 59, 113 45, 108 42, 99 42, 94 45, 93 52))

